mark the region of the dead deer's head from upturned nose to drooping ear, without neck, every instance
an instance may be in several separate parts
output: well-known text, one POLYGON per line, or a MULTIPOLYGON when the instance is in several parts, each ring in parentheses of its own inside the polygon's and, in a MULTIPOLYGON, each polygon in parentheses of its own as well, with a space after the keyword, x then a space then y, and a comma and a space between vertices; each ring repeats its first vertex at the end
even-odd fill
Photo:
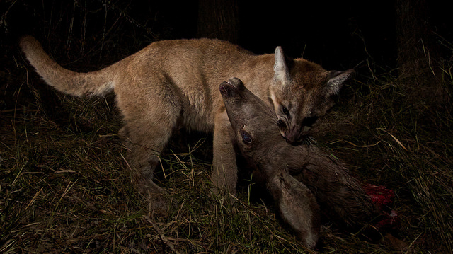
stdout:
MULTIPOLYGON (((285 163, 275 159, 274 156, 280 154, 279 146, 270 145, 263 136, 273 129, 272 126, 277 127, 275 114, 262 100, 256 100, 239 79, 222 83, 220 91, 236 133, 235 141, 243 155, 255 166, 258 182, 265 185, 280 217, 293 229, 304 246, 314 248, 319 238, 319 205, 311 190, 289 175, 285 163), (254 114, 255 111, 263 113, 254 114)), ((287 144, 278 131, 269 134, 287 144)))

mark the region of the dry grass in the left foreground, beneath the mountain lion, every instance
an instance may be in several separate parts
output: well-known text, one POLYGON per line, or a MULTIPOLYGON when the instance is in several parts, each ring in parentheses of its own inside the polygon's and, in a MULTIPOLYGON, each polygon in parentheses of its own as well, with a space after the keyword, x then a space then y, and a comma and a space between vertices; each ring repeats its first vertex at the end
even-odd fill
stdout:
MULTIPOLYGON (((76 108, 86 103, 63 100, 76 108)), ((90 104, 96 108, 103 102, 90 104)), ((85 112, 72 117, 86 120, 85 112)), ((207 191, 209 165, 193 158, 193 151, 163 157, 167 167, 161 185, 178 202, 168 217, 154 218, 122 171, 125 149, 115 125, 91 118, 93 131, 79 132, 57 127, 39 110, 28 119, 18 112, 2 114, 2 120, 8 118, 14 125, 9 131, 18 135, 13 144, 3 142, 7 148, 1 150, 1 253, 302 249, 268 207, 240 201, 231 214, 232 207, 207 191), (263 247, 269 237, 275 241, 263 247)))

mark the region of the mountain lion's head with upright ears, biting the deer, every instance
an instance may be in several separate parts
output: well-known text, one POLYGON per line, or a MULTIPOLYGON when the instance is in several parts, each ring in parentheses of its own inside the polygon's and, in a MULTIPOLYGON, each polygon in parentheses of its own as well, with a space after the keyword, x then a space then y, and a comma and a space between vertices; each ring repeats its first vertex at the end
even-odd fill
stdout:
POLYGON ((355 71, 326 71, 305 59, 289 59, 275 50, 274 81, 270 99, 280 134, 291 144, 302 142, 311 126, 333 106, 336 95, 355 71))

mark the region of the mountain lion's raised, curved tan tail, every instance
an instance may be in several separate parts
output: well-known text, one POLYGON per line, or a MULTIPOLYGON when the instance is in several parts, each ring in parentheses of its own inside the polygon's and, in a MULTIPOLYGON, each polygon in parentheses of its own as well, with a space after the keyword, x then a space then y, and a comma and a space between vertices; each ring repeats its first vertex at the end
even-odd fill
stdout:
POLYGON ((64 69, 50 59, 34 37, 21 38, 20 46, 30 64, 35 67, 42 79, 58 91, 73 96, 103 95, 115 86, 113 69, 115 64, 99 71, 79 73, 64 69))

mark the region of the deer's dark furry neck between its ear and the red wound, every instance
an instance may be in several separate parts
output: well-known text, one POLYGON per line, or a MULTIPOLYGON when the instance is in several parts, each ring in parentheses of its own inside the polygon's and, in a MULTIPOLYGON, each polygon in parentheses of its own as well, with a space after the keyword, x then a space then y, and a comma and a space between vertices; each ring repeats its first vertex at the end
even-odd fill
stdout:
POLYGON ((349 226, 362 226, 377 213, 356 178, 345 166, 314 146, 287 150, 289 173, 314 192, 323 214, 332 221, 349 226))

